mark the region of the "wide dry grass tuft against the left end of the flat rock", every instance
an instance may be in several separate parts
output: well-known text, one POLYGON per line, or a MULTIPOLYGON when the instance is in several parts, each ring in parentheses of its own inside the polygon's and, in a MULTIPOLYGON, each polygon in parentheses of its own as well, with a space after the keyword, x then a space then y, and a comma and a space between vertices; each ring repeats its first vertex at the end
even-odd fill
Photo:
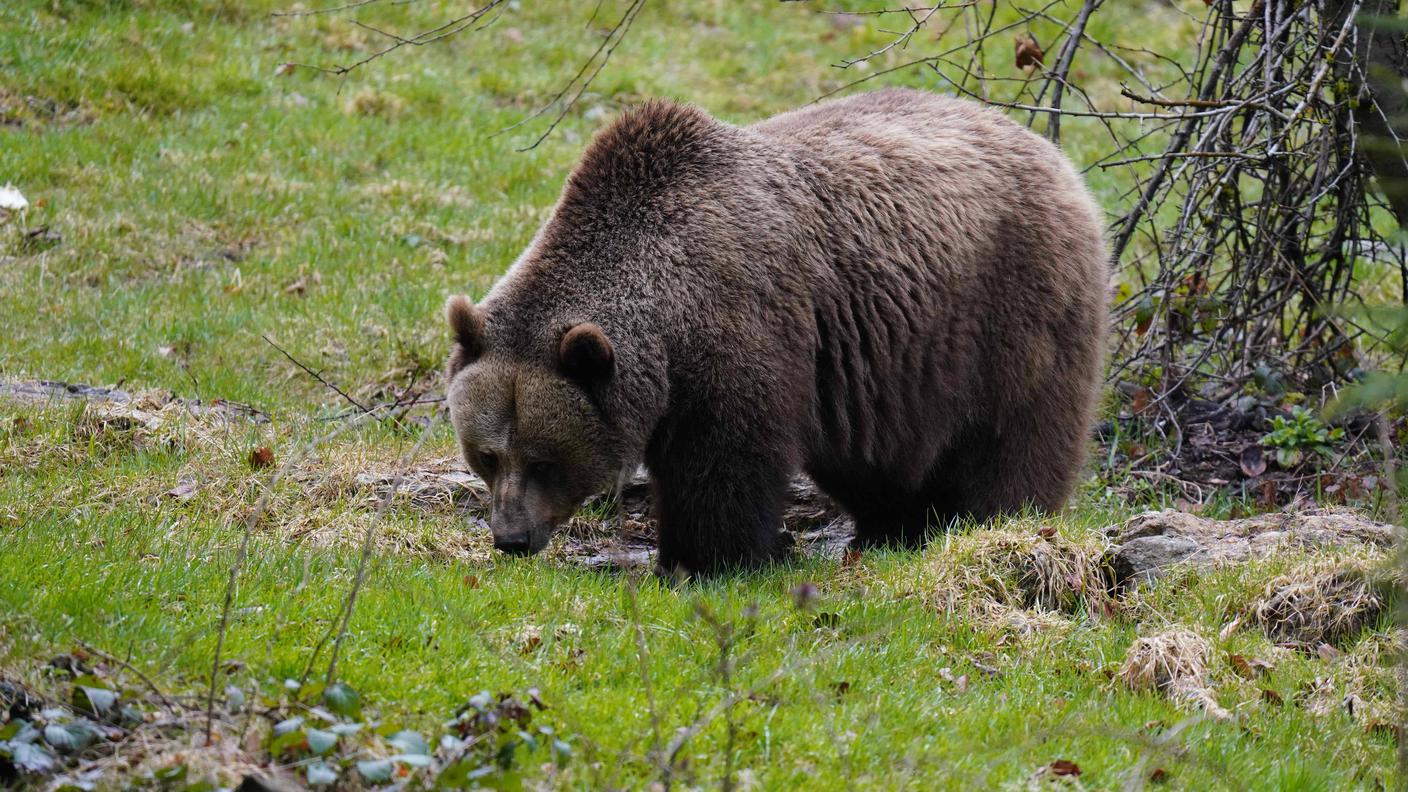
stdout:
POLYGON ((955 534, 929 564, 942 610, 1029 609, 1110 613, 1114 599, 1104 547, 1050 528, 991 528, 955 534))

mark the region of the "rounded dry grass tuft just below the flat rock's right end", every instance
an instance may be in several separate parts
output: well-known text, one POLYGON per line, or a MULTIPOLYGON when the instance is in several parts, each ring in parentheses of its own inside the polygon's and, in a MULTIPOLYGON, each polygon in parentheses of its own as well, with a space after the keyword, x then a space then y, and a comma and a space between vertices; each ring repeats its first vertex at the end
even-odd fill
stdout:
POLYGON ((1315 651, 1343 647, 1384 612, 1385 599, 1360 568, 1305 569, 1266 585, 1252 617, 1271 641, 1315 651))

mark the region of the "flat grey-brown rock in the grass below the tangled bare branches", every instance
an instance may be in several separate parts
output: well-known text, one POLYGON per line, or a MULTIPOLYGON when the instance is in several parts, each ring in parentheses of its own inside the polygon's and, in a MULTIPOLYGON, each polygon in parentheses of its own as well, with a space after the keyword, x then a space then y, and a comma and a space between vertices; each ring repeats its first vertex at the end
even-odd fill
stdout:
POLYGON ((1187 564, 1218 567, 1266 558, 1286 547, 1385 548, 1394 528, 1347 510, 1307 510, 1242 520, 1208 520, 1184 512, 1146 512, 1105 528, 1115 582, 1153 581, 1187 564))

